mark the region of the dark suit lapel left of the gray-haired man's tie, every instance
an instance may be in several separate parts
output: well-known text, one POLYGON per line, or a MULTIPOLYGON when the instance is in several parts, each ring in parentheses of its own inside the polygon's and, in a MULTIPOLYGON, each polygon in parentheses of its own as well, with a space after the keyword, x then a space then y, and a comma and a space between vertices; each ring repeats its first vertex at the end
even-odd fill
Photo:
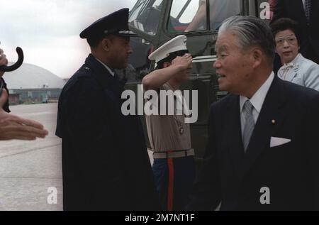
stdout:
POLYGON ((242 159, 244 158, 244 148, 242 145, 242 131, 240 124, 240 104, 239 96, 233 95, 228 102, 228 116, 226 121, 227 131, 224 135, 227 137, 228 151, 233 160, 234 171, 239 176, 240 168, 242 166, 242 159))

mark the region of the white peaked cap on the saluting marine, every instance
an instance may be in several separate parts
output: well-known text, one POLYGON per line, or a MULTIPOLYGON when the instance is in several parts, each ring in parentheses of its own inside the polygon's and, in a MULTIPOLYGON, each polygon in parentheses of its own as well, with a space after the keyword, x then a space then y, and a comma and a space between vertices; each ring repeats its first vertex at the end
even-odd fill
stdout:
POLYGON ((159 62, 166 57, 169 57, 169 53, 174 53, 180 50, 187 50, 186 47, 187 37, 185 35, 179 35, 167 43, 164 43, 161 47, 157 48, 150 56, 149 60, 155 60, 159 62))

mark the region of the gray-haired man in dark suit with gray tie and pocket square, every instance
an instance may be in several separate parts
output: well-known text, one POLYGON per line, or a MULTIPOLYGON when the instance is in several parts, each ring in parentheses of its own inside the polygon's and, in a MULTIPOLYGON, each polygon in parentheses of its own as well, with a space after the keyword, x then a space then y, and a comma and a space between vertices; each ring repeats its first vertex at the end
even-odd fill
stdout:
POLYGON ((205 162, 189 210, 319 209, 319 93, 274 76, 275 43, 258 18, 220 27, 205 162))

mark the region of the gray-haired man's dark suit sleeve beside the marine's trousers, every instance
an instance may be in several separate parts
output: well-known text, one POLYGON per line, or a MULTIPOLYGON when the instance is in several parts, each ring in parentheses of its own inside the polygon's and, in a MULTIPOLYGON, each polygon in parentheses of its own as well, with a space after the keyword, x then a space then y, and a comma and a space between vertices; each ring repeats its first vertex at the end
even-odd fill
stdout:
POLYGON ((213 106, 208 124, 208 144, 203 158, 203 168, 196 177, 190 197, 191 201, 186 207, 190 211, 214 210, 218 207, 221 199, 213 106))

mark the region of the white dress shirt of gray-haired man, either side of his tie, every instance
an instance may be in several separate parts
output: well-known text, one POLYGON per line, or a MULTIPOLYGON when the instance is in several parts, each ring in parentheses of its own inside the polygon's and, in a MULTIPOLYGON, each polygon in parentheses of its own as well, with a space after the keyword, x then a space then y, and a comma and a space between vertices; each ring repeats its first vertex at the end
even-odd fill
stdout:
POLYGON ((270 86, 272 85, 272 81, 274 80, 274 72, 268 77, 268 79, 262 84, 262 87, 259 87, 254 96, 251 99, 240 95, 240 122, 242 125, 242 133, 245 128, 245 115, 242 112, 244 104, 247 100, 250 100, 254 109, 252 109, 252 116, 254 117, 254 124, 256 124, 260 111, 262 110, 262 105, 264 104, 264 99, 269 91, 270 86))

